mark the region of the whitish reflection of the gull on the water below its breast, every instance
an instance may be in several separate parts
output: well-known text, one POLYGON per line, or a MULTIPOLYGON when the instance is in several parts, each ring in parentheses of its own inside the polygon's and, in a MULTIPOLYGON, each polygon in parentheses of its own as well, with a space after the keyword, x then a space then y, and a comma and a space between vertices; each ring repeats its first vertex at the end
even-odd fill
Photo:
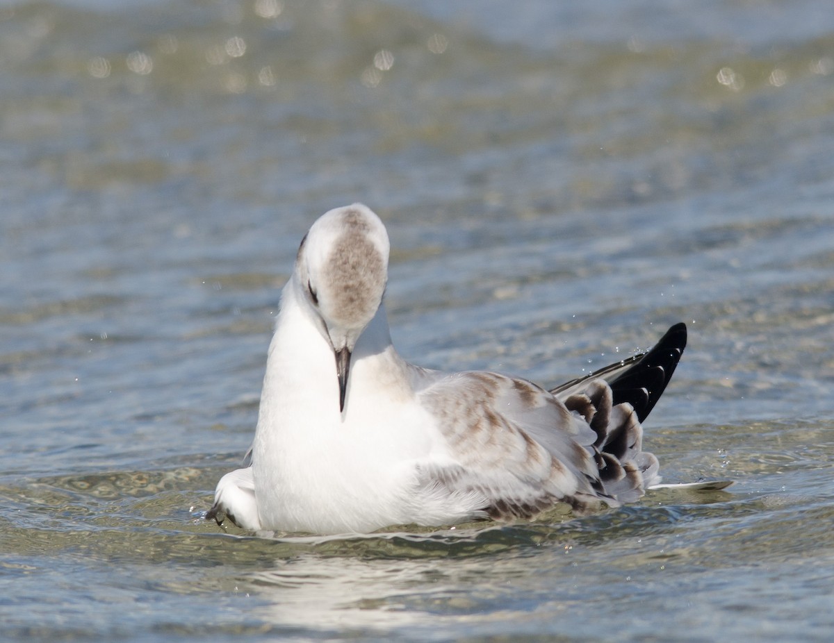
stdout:
POLYGON ((558 573, 554 566, 565 571, 570 561, 563 556, 556 565, 549 551, 425 558, 310 553, 256 571, 239 588, 248 587, 269 603, 256 613, 275 625, 343 630, 437 627, 443 621, 465 622, 484 611, 511 620, 513 603, 519 601, 515 592, 535 587, 543 571, 558 573), (502 609, 496 611, 498 605, 502 609))

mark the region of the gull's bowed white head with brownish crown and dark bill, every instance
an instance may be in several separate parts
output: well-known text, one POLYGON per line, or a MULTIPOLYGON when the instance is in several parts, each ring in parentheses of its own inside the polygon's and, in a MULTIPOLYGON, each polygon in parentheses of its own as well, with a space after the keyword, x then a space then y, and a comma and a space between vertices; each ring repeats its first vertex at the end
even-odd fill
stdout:
POLYGON ((326 212, 299 247, 295 285, 333 348, 339 411, 344 411, 350 356, 382 303, 389 248, 383 223, 361 203, 326 212))

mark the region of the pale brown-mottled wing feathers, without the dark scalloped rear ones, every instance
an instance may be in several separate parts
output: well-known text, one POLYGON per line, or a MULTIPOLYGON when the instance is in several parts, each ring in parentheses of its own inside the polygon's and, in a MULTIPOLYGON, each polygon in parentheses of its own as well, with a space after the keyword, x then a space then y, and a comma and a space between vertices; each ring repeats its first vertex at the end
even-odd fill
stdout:
POLYGON ((483 496, 493 518, 530 517, 556 502, 596 501, 595 434, 547 391, 496 373, 448 376, 421 393, 455 465, 428 466, 426 482, 483 496))

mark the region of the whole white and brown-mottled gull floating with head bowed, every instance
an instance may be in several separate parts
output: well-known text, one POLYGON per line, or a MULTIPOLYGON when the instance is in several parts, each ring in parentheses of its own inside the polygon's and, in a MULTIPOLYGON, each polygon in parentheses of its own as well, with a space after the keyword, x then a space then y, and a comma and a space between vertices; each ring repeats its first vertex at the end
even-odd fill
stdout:
POLYGON ((384 224, 362 204, 310 227, 281 295, 252 447, 220 479, 208 519, 369 533, 535 519, 560 503, 581 515, 660 486, 641 421, 681 359, 683 323, 651 351, 550 390, 429 370, 391 343, 388 258, 384 224))

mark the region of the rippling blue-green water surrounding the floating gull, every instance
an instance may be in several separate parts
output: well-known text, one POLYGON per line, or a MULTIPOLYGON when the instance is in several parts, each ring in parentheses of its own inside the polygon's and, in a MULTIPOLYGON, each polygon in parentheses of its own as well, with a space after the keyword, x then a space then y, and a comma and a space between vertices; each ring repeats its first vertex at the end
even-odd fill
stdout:
POLYGON ((827 2, 0 7, 9 639, 827 641, 827 2), (249 446, 320 213, 394 252, 394 341, 557 384, 690 345, 616 511, 267 541, 199 520, 249 446))

